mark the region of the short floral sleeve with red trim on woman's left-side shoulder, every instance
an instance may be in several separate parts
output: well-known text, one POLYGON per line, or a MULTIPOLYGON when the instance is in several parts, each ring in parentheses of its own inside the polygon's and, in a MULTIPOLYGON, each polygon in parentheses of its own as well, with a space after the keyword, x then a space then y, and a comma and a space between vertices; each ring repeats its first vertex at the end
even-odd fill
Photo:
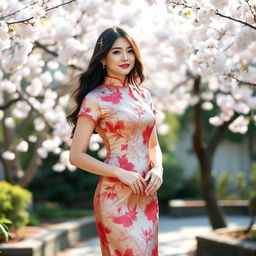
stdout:
POLYGON ((101 115, 100 105, 95 94, 88 93, 80 106, 80 110, 77 114, 79 116, 87 116, 92 119, 94 122, 98 122, 101 115))

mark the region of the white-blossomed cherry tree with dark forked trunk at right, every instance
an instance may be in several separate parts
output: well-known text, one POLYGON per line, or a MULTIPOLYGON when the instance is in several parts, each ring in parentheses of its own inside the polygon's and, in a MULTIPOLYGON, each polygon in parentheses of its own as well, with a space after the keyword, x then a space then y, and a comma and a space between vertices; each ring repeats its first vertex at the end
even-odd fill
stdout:
POLYGON ((228 128, 244 134, 249 122, 256 122, 255 7, 254 1, 248 0, 168 1, 171 14, 189 28, 185 30, 186 72, 193 81, 191 93, 198 97, 193 145, 213 228, 226 226, 211 174, 218 143, 228 128), (216 128, 203 139, 202 109, 212 110, 214 106, 218 114, 209 122, 216 128))

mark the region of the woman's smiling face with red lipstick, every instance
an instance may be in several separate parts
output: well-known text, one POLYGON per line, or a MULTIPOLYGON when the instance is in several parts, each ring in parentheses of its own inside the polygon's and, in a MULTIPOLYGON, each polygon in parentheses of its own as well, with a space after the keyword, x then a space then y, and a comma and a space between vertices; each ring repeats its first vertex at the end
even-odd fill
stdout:
POLYGON ((124 80, 135 64, 135 55, 126 38, 119 37, 112 45, 107 56, 102 60, 107 74, 124 80))

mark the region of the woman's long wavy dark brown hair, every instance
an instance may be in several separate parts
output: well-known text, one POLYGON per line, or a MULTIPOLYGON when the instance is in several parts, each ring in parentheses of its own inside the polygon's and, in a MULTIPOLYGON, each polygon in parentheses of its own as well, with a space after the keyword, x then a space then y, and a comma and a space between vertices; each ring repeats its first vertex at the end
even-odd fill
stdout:
MULTIPOLYGON (((112 27, 104 30, 96 42, 87 70, 77 76, 78 83, 73 91, 71 91, 71 99, 75 102, 76 106, 66 117, 67 121, 71 125, 74 125, 70 138, 73 138, 75 132, 77 115, 79 113, 83 98, 91 90, 101 85, 105 76, 107 75, 107 71, 103 68, 101 60, 106 57, 114 42, 120 37, 128 40, 135 55, 135 65, 127 75, 128 83, 138 87, 144 80, 143 65, 141 62, 139 48, 133 38, 131 38, 127 32, 120 27, 112 27)), ((95 130, 93 133, 96 133, 95 130)))

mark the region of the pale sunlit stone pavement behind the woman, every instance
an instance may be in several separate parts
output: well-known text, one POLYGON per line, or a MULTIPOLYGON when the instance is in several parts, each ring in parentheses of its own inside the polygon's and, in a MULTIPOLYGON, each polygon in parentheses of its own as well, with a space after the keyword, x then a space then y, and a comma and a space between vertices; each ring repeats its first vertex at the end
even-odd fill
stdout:
MULTIPOLYGON (((229 226, 247 226, 249 217, 227 217, 229 226)), ((171 218, 160 216, 159 222, 159 256, 188 256, 193 255, 196 247, 196 235, 202 235, 211 231, 208 218, 185 217, 171 218)), ((69 248, 58 256, 100 256, 98 238, 89 239, 69 248)))

